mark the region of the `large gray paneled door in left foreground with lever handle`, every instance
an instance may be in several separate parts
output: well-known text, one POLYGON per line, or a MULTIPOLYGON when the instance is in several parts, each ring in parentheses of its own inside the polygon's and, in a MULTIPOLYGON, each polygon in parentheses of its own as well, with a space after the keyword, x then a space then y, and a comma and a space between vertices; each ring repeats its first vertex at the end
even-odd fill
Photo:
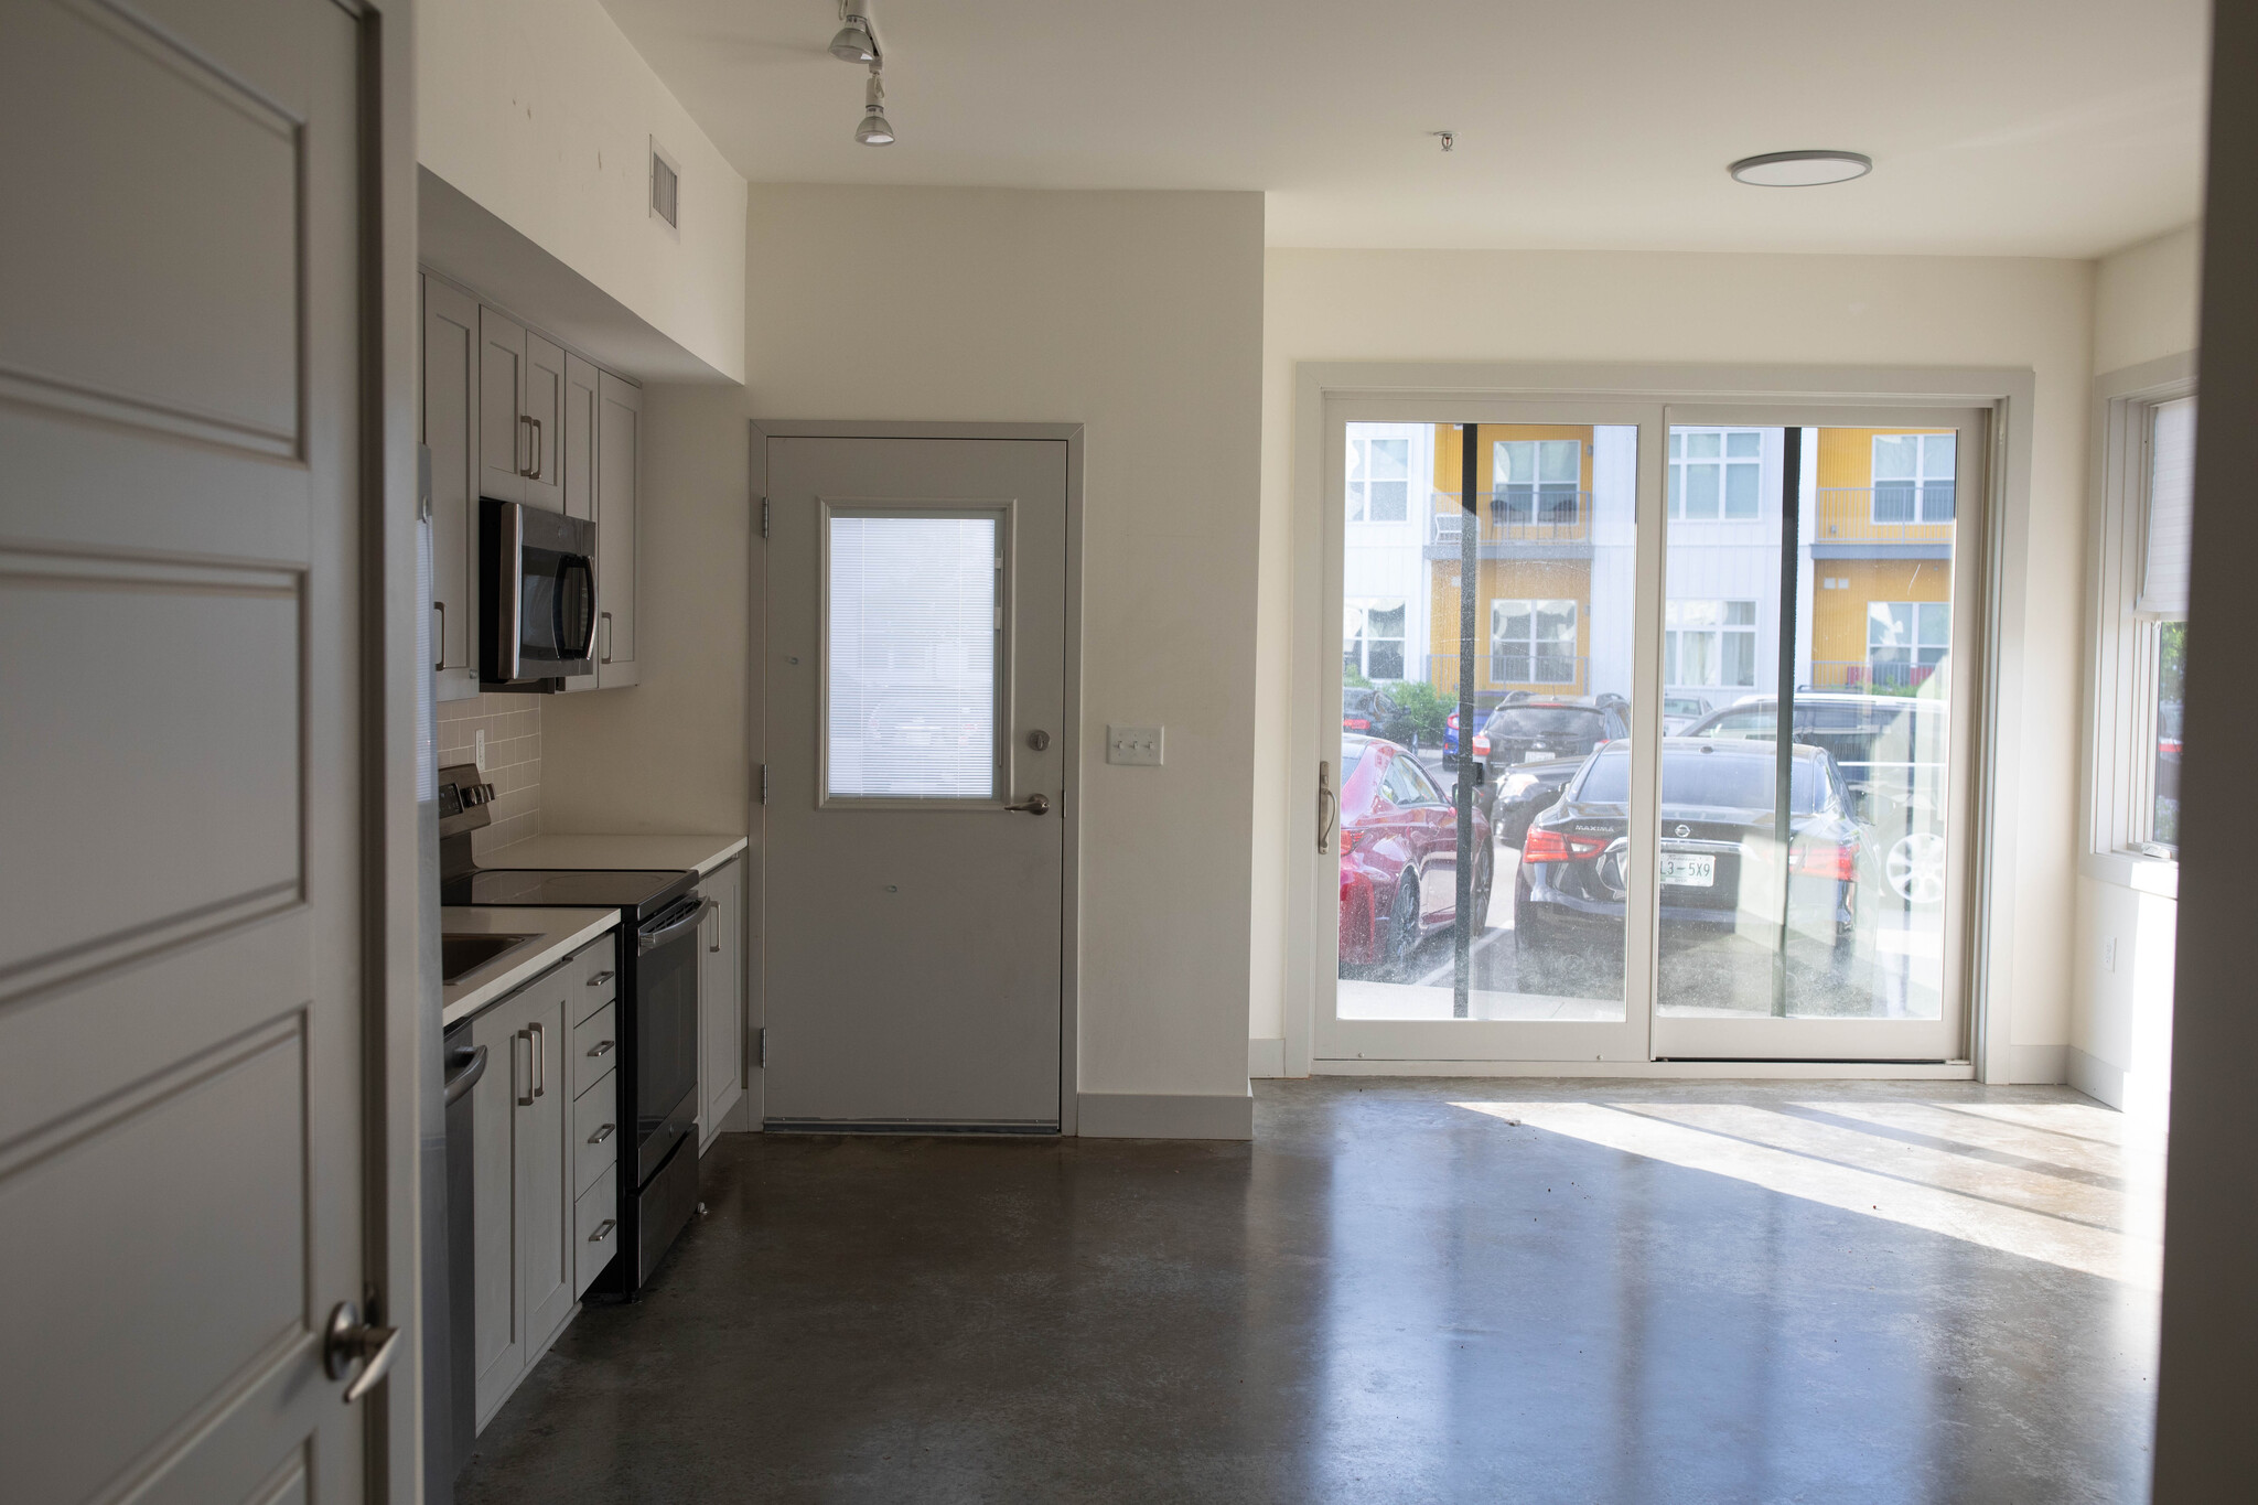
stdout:
POLYGON ((370 36, 0 7, 14 1500, 361 1498, 370 36))

